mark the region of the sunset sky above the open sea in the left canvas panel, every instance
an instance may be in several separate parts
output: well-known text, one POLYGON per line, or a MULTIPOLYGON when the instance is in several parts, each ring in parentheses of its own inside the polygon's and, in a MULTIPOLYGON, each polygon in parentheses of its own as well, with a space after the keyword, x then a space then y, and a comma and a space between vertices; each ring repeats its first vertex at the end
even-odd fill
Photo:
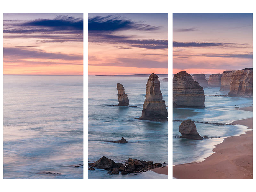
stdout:
POLYGON ((4 74, 83 75, 83 13, 4 13, 4 74))

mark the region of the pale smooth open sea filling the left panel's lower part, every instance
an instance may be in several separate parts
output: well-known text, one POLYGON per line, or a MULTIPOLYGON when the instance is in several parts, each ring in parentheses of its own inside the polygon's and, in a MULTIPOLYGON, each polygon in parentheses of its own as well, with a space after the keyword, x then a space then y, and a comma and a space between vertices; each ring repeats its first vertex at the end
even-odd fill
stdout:
POLYGON ((3 153, 4 179, 83 179, 83 76, 4 75, 3 153))

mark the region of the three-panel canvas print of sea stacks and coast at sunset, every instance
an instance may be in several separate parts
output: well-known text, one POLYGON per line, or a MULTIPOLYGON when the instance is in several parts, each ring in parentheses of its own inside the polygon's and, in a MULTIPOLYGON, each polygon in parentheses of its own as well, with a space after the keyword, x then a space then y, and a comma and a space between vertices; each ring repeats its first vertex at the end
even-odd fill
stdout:
POLYGON ((4 179, 252 179, 252 13, 84 14, 4 13, 4 179))

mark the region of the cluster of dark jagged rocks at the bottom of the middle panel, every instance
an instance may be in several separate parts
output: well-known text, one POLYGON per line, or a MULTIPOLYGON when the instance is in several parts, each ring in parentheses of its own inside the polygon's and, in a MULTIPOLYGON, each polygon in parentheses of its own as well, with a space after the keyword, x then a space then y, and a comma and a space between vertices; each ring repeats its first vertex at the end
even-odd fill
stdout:
MULTIPOLYGON (((164 162, 165 164, 165 162, 164 162)), ((161 163, 153 163, 153 161, 142 161, 138 159, 129 158, 127 162, 116 163, 112 159, 109 159, 105 156, 101 157, 99 160, 94 163, 88 163, 88 170, 95 170, 94 167, 99 169, 108 170, 108 174, 119 174, 121 172, 122 175, 126 175, 128 173, 141 173, 147 172, 150 169, 154 169, 156 167, 162 167, 161 163)), ((165 167, 165 166, 163 166, 165 167)))

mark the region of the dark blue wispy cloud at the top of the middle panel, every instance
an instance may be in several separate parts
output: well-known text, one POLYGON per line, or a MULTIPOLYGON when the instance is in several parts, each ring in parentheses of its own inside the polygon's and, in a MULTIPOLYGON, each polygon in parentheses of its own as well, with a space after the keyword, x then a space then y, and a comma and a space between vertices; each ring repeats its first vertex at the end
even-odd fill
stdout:
POLYGON ((157 30, 160 27, 151 26, 132 20, 125 19, 124 17, 118 17, 108 15, 106 17, 95 16, 88 18, 88 31, 104 31, 113 32, 119 30, 135 29, 135 30, 157 30))

